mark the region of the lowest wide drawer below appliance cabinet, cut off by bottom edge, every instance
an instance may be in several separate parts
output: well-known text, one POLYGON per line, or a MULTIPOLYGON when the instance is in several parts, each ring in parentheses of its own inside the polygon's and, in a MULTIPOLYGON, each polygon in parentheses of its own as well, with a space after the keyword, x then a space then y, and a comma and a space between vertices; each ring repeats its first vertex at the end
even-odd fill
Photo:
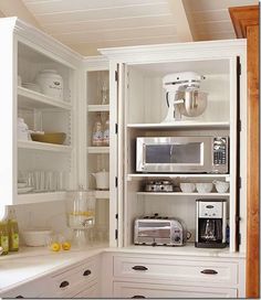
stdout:
POLYGON ((114 282, 115 298, 237 298, 237 289, 209 288, 175 285, 150 285, 143 282, 114 282))

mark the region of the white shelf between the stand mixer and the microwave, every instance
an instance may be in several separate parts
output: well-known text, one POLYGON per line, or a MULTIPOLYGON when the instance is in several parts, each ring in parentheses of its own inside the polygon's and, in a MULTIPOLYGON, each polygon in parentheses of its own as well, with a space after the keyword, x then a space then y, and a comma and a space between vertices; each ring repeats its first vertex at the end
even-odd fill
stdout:
POLYGON ((217 121, 217 122, 210 122, 210 121, 176 121, 174 124, 128 124, 127 128, 135 128, 135 129, 200 129, 200 128, 207 128, 207 129, 217 129, 217 128, 229 128, 229 122, 227 121, 217 121))

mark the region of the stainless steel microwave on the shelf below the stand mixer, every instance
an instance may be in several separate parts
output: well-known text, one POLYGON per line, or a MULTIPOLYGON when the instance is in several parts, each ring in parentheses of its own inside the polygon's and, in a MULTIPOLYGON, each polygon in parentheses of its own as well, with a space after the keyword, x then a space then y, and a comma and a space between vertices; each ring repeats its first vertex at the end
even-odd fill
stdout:
POLYGON ((228 137, 136 138, 136 171, 146 173, 228 173, 228 137))

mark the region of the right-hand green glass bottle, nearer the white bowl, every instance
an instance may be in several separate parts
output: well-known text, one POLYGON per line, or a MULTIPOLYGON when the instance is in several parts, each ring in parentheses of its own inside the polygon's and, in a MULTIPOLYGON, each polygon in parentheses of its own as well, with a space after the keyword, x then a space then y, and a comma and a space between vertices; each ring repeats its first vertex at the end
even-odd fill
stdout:
POLYGON ((9 235, 9 250, 19 250, 19 228, 15 212, 13 208, 9 210, 8 215, 8 235, 9 235))

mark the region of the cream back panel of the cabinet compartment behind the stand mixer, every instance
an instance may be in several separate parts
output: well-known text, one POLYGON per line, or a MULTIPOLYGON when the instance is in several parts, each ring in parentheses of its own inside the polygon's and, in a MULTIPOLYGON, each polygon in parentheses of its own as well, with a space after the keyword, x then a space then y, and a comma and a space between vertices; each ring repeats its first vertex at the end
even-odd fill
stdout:
MULTIPOLYGON (((189 71, 197 72, 197 69, 189 71)), ((175 72, 173 71, 158 76, 156 72, 144 72, 136 66, 128 68, 127 124, 158 124, 164 120, 168 107, 166 93, 163 88, 163 77, 171 73, 175 72)), ((199 75, 206 76, 206 79, 201 81, 200 90, 208 93, 207 109, 199 117, 189 118, 182 116, 182 119, 195 121, 228 121, 230 100, 229 73, 217 73, 217 69, 213 68, 212 74, 199 73, 199 75)))

